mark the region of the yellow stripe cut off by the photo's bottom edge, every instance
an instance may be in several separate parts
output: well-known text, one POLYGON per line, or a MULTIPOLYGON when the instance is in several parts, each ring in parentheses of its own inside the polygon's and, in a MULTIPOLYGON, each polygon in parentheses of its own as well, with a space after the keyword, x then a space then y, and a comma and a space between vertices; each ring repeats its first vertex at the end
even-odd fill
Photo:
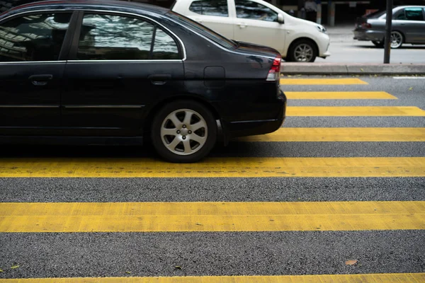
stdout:
MULTIPOLYGON (((184 269, 184 267, 183 267, 184 269)), ((276 276, 187 276, 187 277, 103 277, 0 279, 0 283, 287 283, 362 282, 419 283, 425 273, 387 273, 359 275, 276 275, 276 276)))

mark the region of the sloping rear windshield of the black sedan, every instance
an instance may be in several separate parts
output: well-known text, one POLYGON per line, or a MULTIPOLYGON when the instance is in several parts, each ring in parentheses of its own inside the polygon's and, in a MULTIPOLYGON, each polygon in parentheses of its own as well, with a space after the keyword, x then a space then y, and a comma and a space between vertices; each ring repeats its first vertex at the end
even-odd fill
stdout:
POLYGON ((166 13, 166 15, 171 18, 174 18, 181 24, 188 26, 188 28, 191 28, 192 30, 196 31, 196 33, 200 33, 200 35, 207 37, 209 40, 212 40, 218 43, 219 45, 222 45, 222 47, 226 47, 228 49, 237 48, 237 44, 234 41, 229 40, 218 33, 215 33, 215 31, 210 30, 209 28, 205 27, 204 25, 201 25, 196 21, 191 20, 190 18, 187 18, 174 11, 169 11, 168 13, 166 13))

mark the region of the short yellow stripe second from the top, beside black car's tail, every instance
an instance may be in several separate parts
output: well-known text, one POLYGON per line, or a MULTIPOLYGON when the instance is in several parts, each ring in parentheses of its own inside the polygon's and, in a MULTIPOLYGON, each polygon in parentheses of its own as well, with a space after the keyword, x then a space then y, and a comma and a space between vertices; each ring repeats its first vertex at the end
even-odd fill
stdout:
POLYGON ((288 99, 397 99, 385 91, 285 91, 288 99))

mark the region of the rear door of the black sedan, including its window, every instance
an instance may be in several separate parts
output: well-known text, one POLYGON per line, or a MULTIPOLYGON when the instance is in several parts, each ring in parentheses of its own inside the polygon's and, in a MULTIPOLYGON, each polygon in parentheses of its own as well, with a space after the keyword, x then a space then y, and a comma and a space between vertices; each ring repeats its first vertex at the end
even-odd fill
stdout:
POLYGON ((147 18, 81 12, 64 72, 62 125, 73 136, 141 134, 146 108, 183 88, 176 37, 147 18))

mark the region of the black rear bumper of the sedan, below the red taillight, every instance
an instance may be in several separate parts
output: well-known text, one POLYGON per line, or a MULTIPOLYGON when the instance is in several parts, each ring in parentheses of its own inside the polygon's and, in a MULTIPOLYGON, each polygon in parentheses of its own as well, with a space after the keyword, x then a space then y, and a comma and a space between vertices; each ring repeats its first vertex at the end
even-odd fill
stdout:
POLYGON ((276 106, 280 110, 274 119, 237 122, 222 121, 223 132, 227 137, 225 140, 232 139, 234 137, 246 137, 256 134, 268 134, 275 132, 283 125, 283 122, 285 121, 286 96, 283 91, 280 91, 280 96, 278 97, 276 103, 276 106))

